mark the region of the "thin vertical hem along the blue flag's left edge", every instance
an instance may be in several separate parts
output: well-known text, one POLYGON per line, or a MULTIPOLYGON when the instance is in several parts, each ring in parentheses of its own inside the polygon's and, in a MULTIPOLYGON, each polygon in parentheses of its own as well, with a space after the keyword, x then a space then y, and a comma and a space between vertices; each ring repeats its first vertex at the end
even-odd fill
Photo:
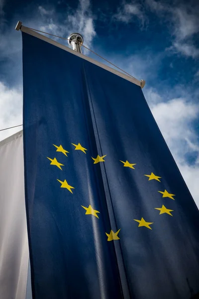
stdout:
MULTIPOLYGON (((23 40, 23 32, 22 32, 22 40, 23 40)), ((23 43, 22 43, 23 50, 23 43)), ((22 52, 23 56, 23 52, 22 52)), ((22 57, 23 58, 23 57, 22 57)), ((24 85, 24 82, 23 82, 24 85)), ((23 94, 24 98, 24 94, 23 94)), ((25 115, 25 105, 23 100, 23 120, 25 115)), ((24 123, 24 121, 23 121, 24 123)), ((23 160, 24 160, 24 191, 25 191, 25 209, 26 209, 26 222, 27 222, 27 233, 28 233, 28 247, 29 247, 29 257, 30 257, 30 273, 31 273, 31 287, 32 287, 32 299, 35 299, 35 288, 34 288, 34 271, 33 271, 33 259, 32 259, 32 246, 30 239, 30 224, 29 224, 29 212, 28 212, 28 199, 27 199, 27 179, 26 179, 26 151, 25 151, 25 126, 23 127, 23 160)))

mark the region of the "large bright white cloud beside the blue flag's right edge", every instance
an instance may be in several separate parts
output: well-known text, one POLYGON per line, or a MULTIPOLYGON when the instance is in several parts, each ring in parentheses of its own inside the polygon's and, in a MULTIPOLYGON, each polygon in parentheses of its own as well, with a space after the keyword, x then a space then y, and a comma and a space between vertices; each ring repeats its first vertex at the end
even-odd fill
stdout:
MULTIPOLYGON (((183 93, 183 91, 182 91, 183 93)), ((150 88, 145 92, 152 114, 171 150, 172 155, 199 207, 199 160, 190 165, 186 154, 198 152, 199 143, 192 122, 199 118, 199 105, 187 98, 172 98, 165 102, 157 90, 150 88)))

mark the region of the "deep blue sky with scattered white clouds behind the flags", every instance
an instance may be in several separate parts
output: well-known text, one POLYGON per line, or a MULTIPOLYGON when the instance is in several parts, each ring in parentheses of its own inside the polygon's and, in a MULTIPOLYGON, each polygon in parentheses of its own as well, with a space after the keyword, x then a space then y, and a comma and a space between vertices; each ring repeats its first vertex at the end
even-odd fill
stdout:
POLYGON ((146 81, 146 101, 199 207, 198 16, 198 0, 0 0, 0 129, 22 124, 17 21, 65 38, 79 32, 85 46, 146 81))

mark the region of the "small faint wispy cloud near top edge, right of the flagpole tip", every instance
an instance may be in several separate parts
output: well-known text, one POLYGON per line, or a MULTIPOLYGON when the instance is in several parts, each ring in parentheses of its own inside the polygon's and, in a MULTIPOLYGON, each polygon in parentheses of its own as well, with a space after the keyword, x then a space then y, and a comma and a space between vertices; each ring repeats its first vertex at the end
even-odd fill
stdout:
POLYGON ((146 16, 142 11, 142 6, 139 3, 125 3, 123 2, 117 9, 117 13, 112 17, 114 20, 121 21, 124 23, 133 22, 135 19, 141 21, 143 26, 146 22, 146 16))

